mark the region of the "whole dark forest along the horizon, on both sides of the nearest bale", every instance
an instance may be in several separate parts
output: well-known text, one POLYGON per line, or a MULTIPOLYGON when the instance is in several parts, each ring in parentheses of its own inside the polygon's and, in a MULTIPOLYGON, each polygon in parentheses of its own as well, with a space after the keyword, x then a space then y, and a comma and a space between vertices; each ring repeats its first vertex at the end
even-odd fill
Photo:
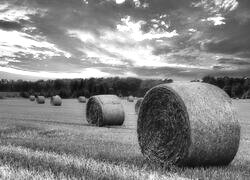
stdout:
MULTIPOLYGON (((250 78, 205 76, 201 81, 220 87, 232 98, 250 98, 250 78)), ((46 97, 58 94, 62 98, 90 97, 98 94, 143 97, 152 87, 172 82, 172 79, 142 80, 138 78, 119 77, 38 80, 35 82, 1 79, 0 92, 20 92, 20 96, 25 98, 31 94, 46 97)))

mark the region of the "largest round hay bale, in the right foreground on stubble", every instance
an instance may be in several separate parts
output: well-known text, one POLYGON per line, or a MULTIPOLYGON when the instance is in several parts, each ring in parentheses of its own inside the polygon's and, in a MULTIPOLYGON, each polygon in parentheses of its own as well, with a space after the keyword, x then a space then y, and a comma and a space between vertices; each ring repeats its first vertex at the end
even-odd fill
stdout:
POLYGON ((141 151, 161 165, 227 165, 240 125, 230 97, 206 83, 171 83, 149 90, 137 124, 141 151))

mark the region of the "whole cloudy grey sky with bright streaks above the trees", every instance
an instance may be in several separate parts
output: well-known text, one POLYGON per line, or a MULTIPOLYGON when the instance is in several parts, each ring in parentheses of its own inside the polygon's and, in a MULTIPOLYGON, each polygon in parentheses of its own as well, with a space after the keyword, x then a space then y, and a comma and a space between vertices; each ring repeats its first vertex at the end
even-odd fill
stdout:
POLYGON ((249 0, 0 0, 0 78, 250 76, 249 0))

